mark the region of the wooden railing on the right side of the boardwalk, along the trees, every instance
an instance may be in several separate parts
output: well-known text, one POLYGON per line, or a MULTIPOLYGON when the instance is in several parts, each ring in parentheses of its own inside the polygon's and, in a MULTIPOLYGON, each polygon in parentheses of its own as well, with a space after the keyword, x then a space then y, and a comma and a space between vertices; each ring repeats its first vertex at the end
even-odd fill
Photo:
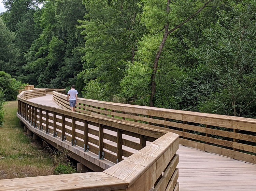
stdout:
MULTIPOLYGON (((53 92, 53 100, 69 109, 66 95, 53 92)), ((256 164, 256 119, 81 98, 75 110, 173 132, 181 136, 180 144, 256 164)))

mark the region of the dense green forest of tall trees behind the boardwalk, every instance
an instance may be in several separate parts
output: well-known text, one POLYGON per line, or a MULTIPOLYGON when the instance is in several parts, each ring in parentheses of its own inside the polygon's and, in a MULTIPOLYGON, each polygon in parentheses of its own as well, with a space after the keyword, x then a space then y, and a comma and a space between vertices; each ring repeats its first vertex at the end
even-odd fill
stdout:
POLYGON ((255 0, 2 2, 0 71, 16 85, 256 118, 255 0))

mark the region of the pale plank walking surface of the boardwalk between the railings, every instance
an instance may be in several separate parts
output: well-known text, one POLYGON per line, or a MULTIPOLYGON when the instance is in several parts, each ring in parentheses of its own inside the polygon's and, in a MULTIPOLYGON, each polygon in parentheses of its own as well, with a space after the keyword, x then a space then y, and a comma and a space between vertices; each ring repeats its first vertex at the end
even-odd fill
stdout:
MULTIPOLYGON (((32 98, 34 103, 60 108, 52 101, 52 95, 32 98)), ((98 129, 95 126, 89 128, 98 129)), ((104 133, 115 134, 115 132, 104 129, 104 133)), ((96 136, 89 135, 97 138, 96 136)), ((123 138, 134 142, 139 139, 123 135, 123 138)), ((106 142, 107 140, 104 140, 106 142)), ((109 141, 109 144, 116 143, 109 141)), ((136 152, 129 147, 124 150, 136 152)), ((234 160, 217 154, 207 153, 194 148, 179 145, 179 179, 180 191, 256 191, 256 165, 234 160)), ((114 164, 114 163, 113 163, 114 164)))

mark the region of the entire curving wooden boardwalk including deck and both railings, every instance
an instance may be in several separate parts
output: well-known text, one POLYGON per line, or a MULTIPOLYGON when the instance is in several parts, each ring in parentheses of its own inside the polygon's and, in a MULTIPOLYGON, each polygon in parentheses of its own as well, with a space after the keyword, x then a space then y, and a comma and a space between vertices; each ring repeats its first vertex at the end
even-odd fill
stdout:
POLYGON ((3 185, 0 190, 253 191, 256 188, 256 166, 243 162, 255 163, 255 156, 240 152, 254 151, 254 147, 238 140, 253 142, 254 136, 210 126, 248 130, 254 128, 253 119, 199 116, 194 112, 87 99, 79 99, 77 112, 71 112, 66 95, 60 92, 64 93, 51 89, 47 89, 47 94, 44 89, 22 92, 18 96, 17 116, 33 133, 101 172, 0 180, 3 185), (196 126, 195 122, 205 126, 196 126), (193 134, 192 130, 205 135, 193 134), (218 141, 212 133, 237 139, 218 141), (178 141, 187 146, 178 145, 178 141), (232 150, 227 145, 216 147, 212 142, 228 144, 232 150))

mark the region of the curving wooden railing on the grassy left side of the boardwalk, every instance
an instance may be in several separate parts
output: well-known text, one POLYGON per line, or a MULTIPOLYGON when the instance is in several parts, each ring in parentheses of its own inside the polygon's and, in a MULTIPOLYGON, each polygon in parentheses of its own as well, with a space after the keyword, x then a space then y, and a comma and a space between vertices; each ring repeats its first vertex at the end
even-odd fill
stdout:
POLYGON ((52 134, 53 141, 60 139, 67 142, 65 148, 68 150, 82 147, 84 153, 92 152, 99 155, 99 159, 118 163, 103 172, 0 180, 0 190, 179 190, 176 169, 179 156, 175 154, 179 147, 178 135, 35 104, 26 99, 32 93, 23 91, 18 95, 18 117, 31 123, 32 128, 52 134), (115 135, 104 133, 104 129, 115 135), (139 139, 140 143, 124 139, 123 134, 139 139), (114 142, 116 146, 104 140, 114 142), (146 145, 146 141, 151 143, 146 145), (133 154, 125 150, 126 147, 139 151, 133 154))

